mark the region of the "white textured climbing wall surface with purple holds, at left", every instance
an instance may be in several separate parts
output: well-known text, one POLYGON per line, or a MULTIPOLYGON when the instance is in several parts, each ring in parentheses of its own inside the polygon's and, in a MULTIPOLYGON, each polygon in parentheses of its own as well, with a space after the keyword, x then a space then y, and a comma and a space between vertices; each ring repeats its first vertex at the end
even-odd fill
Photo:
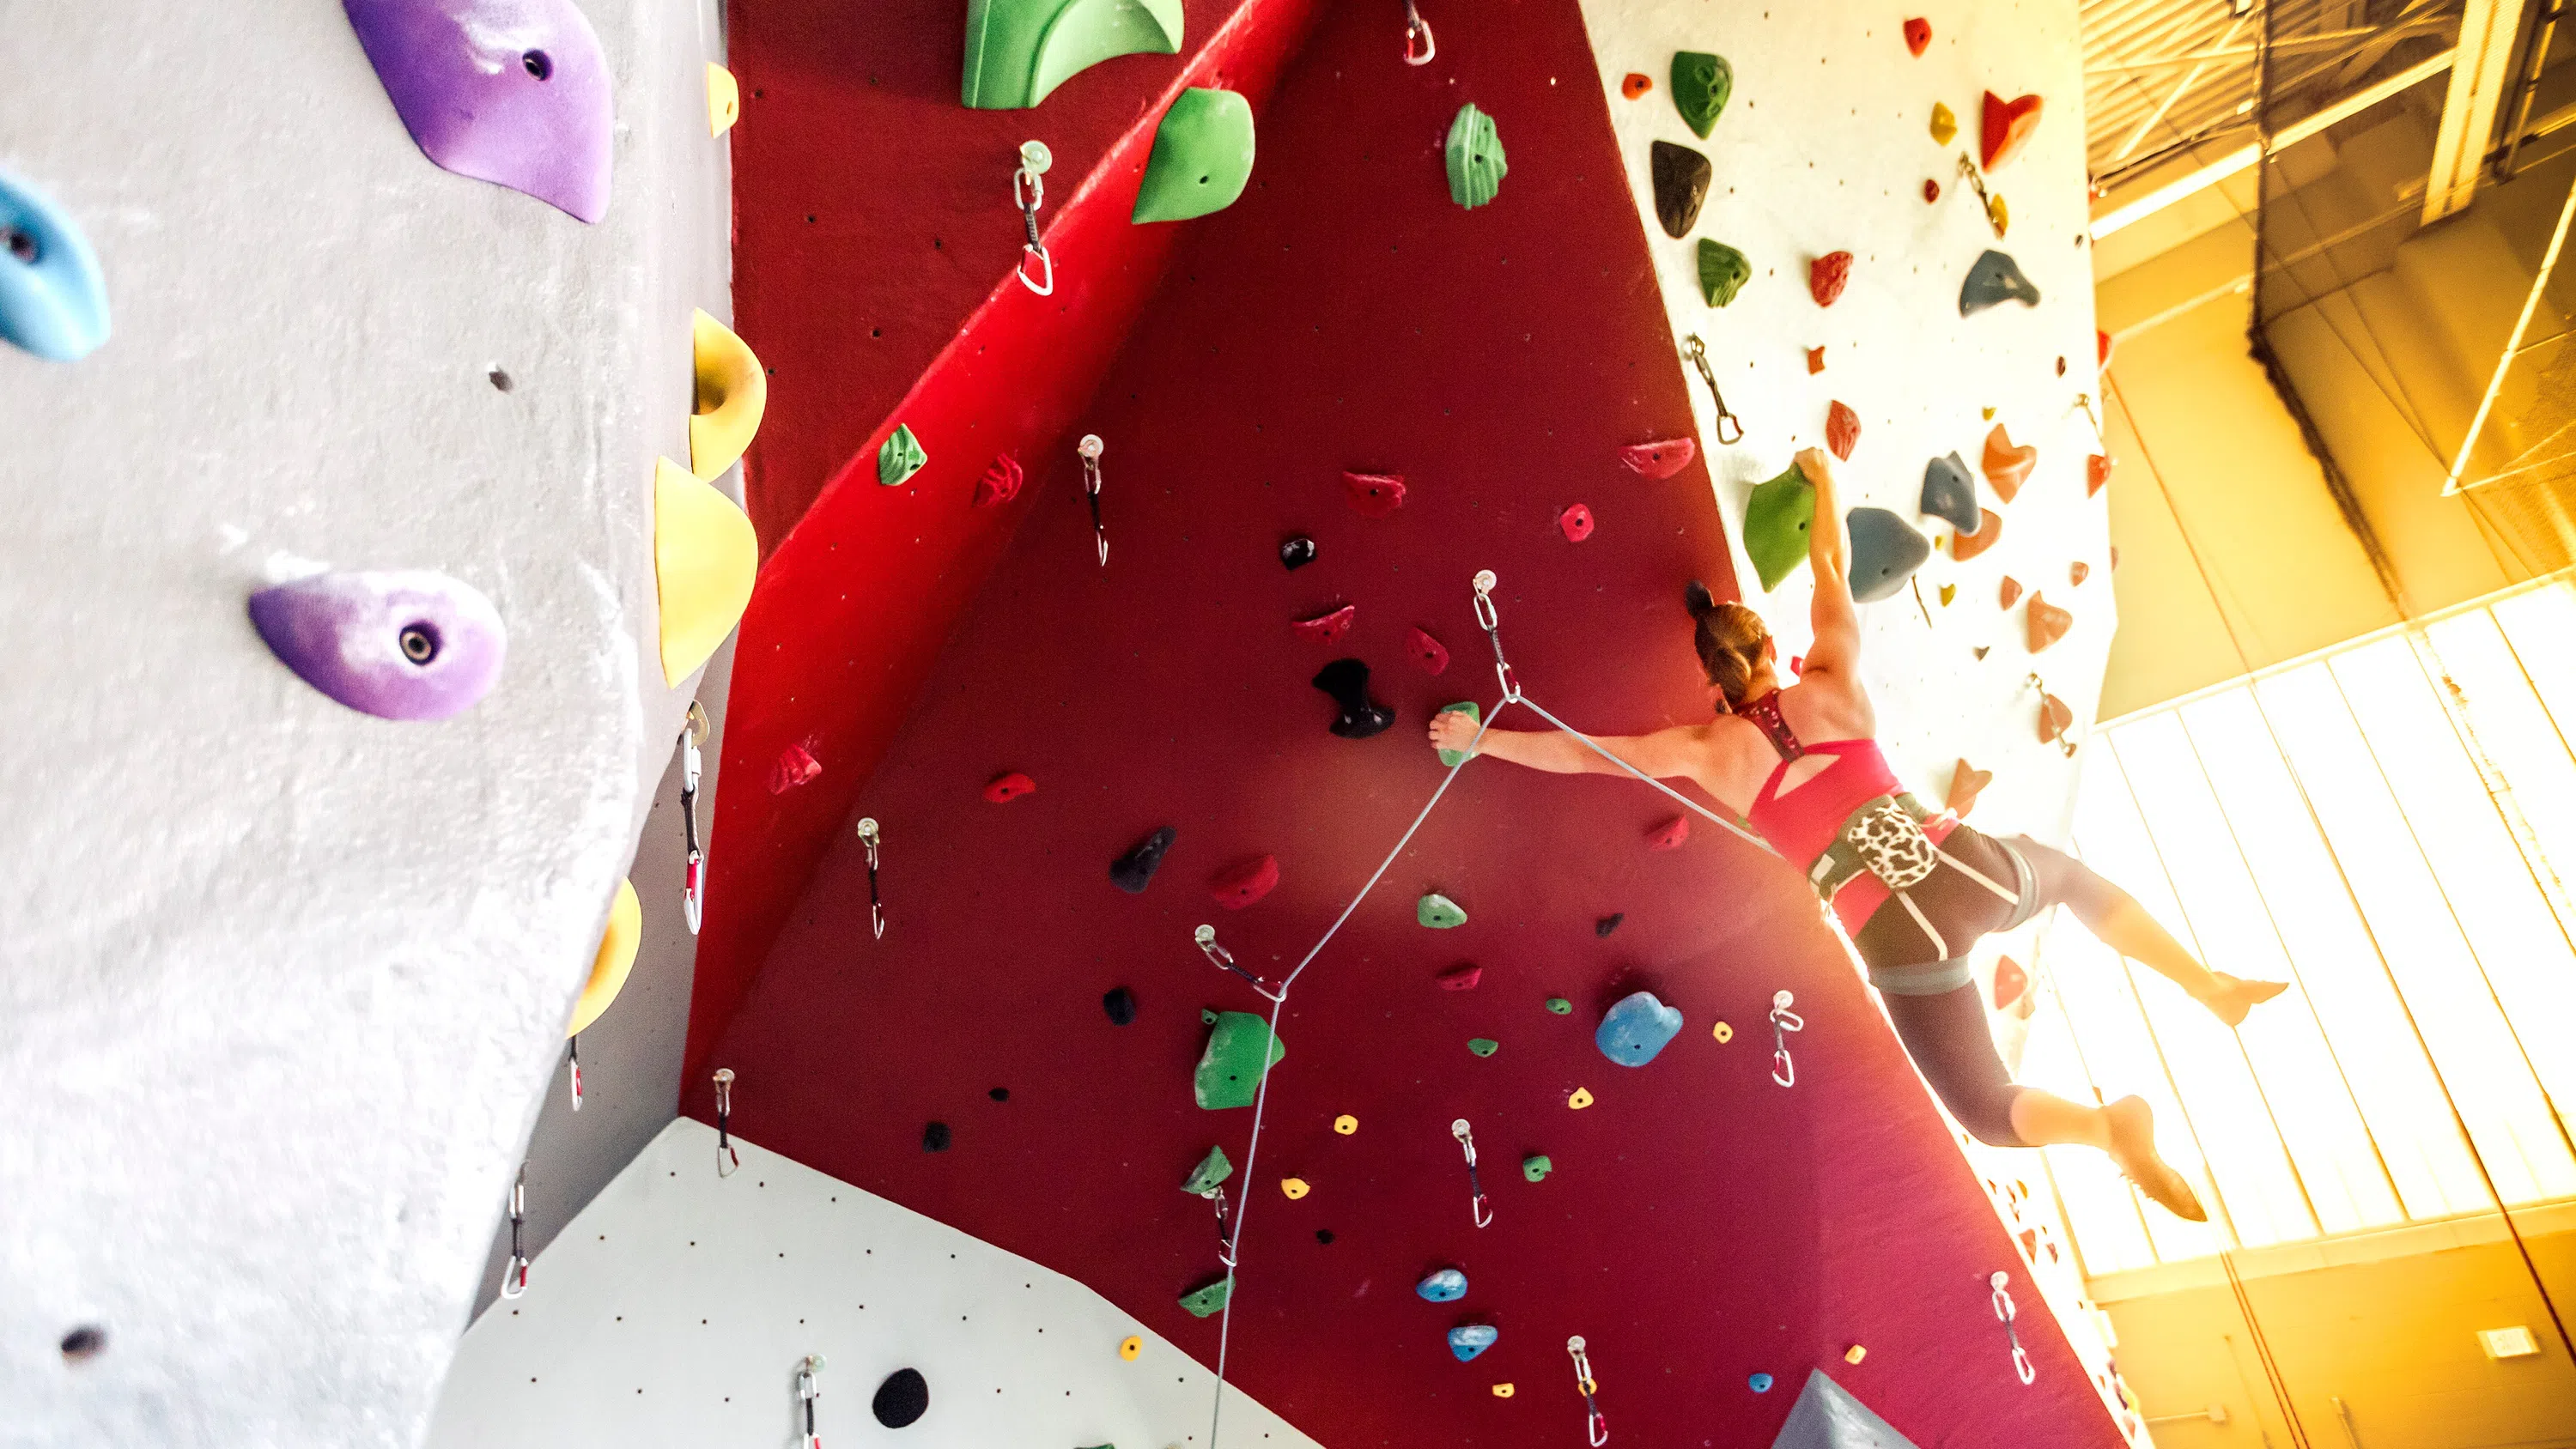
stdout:
POLYGON ((332 0, 0 0, 0 167, 116 317, 0 347, 0 1444, 422 1434, 688 700, 652 458, 729 311, 716 15, 582 8, 600 226, 430 165, 332 0), (330 703, 245 618, 291 561, 484 589, 500 685, 330 703))

